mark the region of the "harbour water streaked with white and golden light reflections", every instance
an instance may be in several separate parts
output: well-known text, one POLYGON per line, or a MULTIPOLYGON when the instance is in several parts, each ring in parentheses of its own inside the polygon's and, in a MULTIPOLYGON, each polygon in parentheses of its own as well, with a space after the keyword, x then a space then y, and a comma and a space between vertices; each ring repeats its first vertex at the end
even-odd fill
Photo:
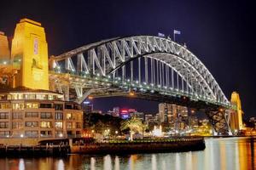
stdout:
POLYGON ((0 169, 256 169, 255 139, 206 139, 206 150, 124 156, 1 158, 0 169))

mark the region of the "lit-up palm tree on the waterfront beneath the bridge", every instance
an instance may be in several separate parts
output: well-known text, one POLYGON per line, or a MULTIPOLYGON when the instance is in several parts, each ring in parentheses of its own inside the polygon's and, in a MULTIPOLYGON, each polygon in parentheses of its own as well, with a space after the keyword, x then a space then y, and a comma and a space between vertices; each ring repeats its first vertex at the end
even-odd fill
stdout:
POLYGON ((143 122, 138 119, 136 116, 132 116, 131 119, 125 120, 121 122, 121 130, 130 129, 130 137, 131 141, 133 140, 132 135, 137 132, 142 132, 145 127, 143 122))

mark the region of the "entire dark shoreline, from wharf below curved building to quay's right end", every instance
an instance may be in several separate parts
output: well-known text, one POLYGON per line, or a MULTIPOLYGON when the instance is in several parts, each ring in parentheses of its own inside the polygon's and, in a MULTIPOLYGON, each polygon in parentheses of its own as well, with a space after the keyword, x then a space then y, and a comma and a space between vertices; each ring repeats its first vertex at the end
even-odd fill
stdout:
POLYGON ((69 154, 138 154, 205 150, 203 138, 109 141, 108 143, 55 145, 2 145, 0 157, 68 156, 69 154))

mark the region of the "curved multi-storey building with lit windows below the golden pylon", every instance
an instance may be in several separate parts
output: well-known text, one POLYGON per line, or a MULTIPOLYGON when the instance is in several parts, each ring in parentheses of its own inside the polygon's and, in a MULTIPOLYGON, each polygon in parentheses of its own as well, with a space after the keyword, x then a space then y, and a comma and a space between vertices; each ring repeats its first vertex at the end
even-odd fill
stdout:
POLYGON ((83 111, 45 90, 0 93, 0 138, 56 139, 80 137, 83 111))

